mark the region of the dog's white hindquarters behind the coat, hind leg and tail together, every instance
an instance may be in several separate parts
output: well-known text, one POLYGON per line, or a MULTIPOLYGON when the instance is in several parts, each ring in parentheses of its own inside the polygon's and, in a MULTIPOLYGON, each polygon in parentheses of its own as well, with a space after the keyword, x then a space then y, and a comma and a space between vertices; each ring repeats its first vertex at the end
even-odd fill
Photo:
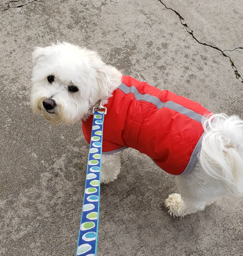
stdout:
POLYGON ((214 114, 203 119, 205 134, 194 169, 176 177, 179 194, 165 200, 168 213, 185 216, 226 194, 243 196, 243 120, 214 114))

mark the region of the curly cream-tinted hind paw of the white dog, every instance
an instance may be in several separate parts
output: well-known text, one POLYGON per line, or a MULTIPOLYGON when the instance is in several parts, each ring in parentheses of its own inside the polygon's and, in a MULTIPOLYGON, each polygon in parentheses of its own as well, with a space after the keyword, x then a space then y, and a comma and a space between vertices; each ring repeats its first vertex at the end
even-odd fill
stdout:
POLYGON ((173 193, 165 200, 165 207, 168 209, 167 213, 172 217, 183 217, 186 214, 183 212, 183 199, 180 194, 173 193))

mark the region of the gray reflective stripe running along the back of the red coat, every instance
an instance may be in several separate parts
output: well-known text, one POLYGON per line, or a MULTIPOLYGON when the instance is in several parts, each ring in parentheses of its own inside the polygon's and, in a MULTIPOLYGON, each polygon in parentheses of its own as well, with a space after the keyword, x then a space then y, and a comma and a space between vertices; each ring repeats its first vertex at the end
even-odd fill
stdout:
POLYGON ((143 101, 153 103, 157 107, 157 109, 161 109, 161 108, 172 109, 177 111, 178 113, 186 115, 187 117, 190 117, 191 119, 201 123, 201 119, 203 117, 201 114, 198 114, 197 112, 191 109, 187 109, 186 107, 183 107, 178 103, 175 103, 173 101, 167 101, 164 103, 156 96, 153 96, 150 94, 141 94, 135 86, 127 86, 124 83, 121 83, 118 88, 122 90, 125 94, 133 93, 136 100, 143 100, 143 101))

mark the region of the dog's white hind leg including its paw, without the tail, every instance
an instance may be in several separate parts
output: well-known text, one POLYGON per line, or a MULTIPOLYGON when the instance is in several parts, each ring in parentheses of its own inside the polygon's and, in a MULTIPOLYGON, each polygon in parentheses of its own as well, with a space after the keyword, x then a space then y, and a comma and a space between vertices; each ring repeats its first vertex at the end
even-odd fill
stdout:
POLYGON ((189 174, 176 176, 175 180, 180 194, 173 193, 165 200, 165 207, 172 217, 204 210, 206 205, 227 194, 224 183, 203 172, 199 161, 189 174))

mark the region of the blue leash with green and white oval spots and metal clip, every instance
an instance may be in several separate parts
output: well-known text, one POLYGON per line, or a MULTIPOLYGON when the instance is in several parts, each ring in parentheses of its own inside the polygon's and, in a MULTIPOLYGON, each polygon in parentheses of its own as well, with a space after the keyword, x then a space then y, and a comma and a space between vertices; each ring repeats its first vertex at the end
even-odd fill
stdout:
POLYGON ((92 113, 94 117, 76 256, 96 256, 97 250, 102 136, 104 115, 106 114, 106 108, 102 106, 102 99, 99 105, 93 108, 92 113))

